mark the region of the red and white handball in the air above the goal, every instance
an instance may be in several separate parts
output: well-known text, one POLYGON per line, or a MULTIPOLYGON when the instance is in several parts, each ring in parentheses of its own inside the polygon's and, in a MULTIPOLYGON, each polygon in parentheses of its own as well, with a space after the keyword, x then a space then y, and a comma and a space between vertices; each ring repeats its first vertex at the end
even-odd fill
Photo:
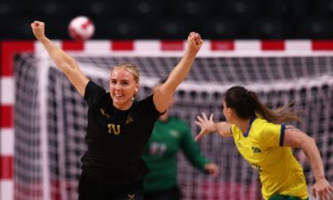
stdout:
POLYGON ((68 25, 69 36, 78 41, 90 39, 94 31, 95 26, 92 21, 85 16, 75 17, 68 25))

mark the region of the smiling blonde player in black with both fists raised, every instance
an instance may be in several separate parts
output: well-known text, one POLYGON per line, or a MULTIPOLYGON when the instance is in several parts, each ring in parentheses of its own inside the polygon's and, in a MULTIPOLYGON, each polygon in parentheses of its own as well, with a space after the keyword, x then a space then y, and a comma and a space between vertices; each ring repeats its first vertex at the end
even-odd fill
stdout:
POLYGON ((135 101, 139 90, 139 71, 135 65, 116 65, 110 75, 110 92, 106 92, 83 75, 74 58, 44 35, 43 22, 35 21, 31 28, 89 107, 85 136, 88 150, 82 158, 79 200, 142 200, 143 177, 147 173, 141 157, 143 148, 155 121, 170 105, 178 84, 186 78, 202 47, 202 38, 190 33, 186 52, 166 82, 146 99, 135 101))

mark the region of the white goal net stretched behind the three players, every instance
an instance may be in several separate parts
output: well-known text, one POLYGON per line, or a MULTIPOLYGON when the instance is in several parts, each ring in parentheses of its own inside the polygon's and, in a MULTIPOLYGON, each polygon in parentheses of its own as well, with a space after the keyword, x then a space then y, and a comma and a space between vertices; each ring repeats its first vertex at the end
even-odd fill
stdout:
MULTIPOLYGON (((168 76, 178 56, 160 54, 73 54, 83 73, 108 89, 110 66, 137 64, 141 71, 138 99, 168 76)), ((295 124, 313 136, 321 151, 327 178, 333 180, 333 55, 204 55, 199 56, 186 81, 178 88, 170 112, 199 132, 195 117, 213 113, 222 120, 222 95, 240 84, 258 92, 270 108, 294 101, 304 111, 295 124)), ((86 150, 87 105, 52 61, 38 54, 15 57, 14 199, 75 200, 86 150)), ((262 199, 258 173, 234 146, 217 135, 203 138, 202 154, 220 166, 218 178, 202 173, 178 156, 178 184, 185 200, 262 199)), ((314 182, 309 163, 299 150, 295 156, 305 169, 308 185, 314 182)))

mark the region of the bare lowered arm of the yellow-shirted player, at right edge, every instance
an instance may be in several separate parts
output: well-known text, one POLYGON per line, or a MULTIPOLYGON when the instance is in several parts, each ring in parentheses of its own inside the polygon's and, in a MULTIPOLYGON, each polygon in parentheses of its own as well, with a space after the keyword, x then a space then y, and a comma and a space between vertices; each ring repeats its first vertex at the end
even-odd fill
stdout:
POLYGON ((312 187, 313 196, 319 196, 320 200, 332 200, 332 186, 325 178, 324 168, 321 161, 321 154, 312 137, 299 131, 297 128, 287 125, 284 132, 283 146, 291 148, 301 148, 308 157, 311 168, 313 170, 315 183, 312 187), (323 197, 329 196, 329 198, 323 197))

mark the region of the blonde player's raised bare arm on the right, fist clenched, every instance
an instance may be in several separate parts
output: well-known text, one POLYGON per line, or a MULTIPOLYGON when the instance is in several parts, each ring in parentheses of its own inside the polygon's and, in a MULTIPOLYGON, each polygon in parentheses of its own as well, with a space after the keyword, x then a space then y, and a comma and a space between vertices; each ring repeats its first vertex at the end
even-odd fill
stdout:
POLYGON ((190 33, 187 37, 187 48, 183 58, 178 62, 178 65, 172 69, 168 79, 154 92, 154 103, 158 111, 164 112, 170 106, 173 93, 178 85, 186 78, 196 53, 202 47, 202 38, 197 33, 190 33))

